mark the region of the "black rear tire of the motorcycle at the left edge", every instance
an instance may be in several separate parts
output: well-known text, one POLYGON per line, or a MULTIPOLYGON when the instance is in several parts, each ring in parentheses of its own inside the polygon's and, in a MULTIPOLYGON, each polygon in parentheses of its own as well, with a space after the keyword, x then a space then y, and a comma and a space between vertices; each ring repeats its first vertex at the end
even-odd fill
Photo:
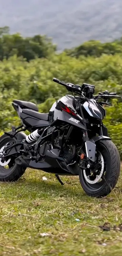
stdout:
MULTIPOLYGON (((0 149, 3 146, 5 146, 6 143, 13 142, 13 141, 14 139, 11 139, 9 136, 5 134, 2 135, 0 137, 0 149)), ((0 181, 1 182, 16 181, 24 174, 26 168, 18 166, 14 160, 15 160, 15 157, 12 156, 7 169, 0 164, 0 181)))

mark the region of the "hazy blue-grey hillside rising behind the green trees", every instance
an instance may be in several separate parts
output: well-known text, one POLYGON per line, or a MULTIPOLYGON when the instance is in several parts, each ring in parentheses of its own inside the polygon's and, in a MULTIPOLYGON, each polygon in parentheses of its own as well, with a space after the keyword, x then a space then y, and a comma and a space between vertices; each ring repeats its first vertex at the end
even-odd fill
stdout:
POLYGON ((58 49, 122 35, 121 0, 0 0, 0 26, 23 36, 46 34, 58 49))

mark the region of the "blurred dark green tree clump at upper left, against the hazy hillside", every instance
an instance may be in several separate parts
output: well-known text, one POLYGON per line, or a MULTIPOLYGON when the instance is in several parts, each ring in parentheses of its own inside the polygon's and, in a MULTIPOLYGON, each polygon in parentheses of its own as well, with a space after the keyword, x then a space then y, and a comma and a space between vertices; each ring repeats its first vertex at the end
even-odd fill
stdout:
POLYGON ((56 50, 56 46, 46 36, 23 38, 19 33, 11 35, 8 32, 9 27, 0 28, 0 60, 8 59, 14 54, 23 56, 27 61, 36 57, 46 58, 56 50))

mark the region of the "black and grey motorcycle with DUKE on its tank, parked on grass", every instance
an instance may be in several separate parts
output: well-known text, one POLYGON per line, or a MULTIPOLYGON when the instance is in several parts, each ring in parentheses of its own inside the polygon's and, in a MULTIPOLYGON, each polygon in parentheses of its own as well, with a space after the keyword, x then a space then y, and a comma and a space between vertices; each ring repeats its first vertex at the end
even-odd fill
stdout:
POLYGON ((53 81, 74 95, 63 96, 49 113, 39 113, 34 103, 13 100, 22 125, 0 138, 0 181, 16 181, 29 167, 54 173, 61 184, 59 175, 79 175, 87 195, 106 196, 117 183, 120 157, 102 123, 102 105, 119 96, 107 91, 93 96, 94 85, 53 81))

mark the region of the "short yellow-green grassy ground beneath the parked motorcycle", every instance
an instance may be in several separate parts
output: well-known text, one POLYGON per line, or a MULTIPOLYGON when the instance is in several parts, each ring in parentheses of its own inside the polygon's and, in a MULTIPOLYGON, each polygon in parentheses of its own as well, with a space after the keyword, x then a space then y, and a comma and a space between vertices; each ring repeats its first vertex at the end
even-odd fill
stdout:
POLYGON ((0 184, 0 255, 122 255, 122 176, 102 199, 87 197, 78 177, 63 181, 27 170, 0 184))

